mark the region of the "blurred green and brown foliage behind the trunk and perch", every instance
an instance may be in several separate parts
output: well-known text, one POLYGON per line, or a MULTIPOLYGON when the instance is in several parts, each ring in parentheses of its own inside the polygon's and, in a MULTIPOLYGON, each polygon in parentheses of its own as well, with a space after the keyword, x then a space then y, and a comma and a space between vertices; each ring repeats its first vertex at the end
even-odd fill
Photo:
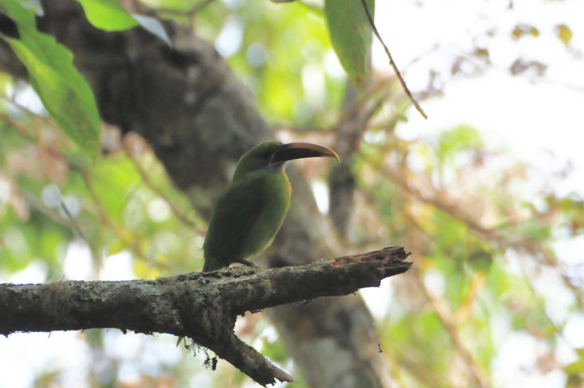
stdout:
MULTIPOLYGON (((573 179, 569 165, 545 176, 530 161, 489 147, 488 133, 467 123, 427 137, 400 136, 399 126, 419 113, 394 75, 384 71, 371 72, 354 98, 347 98, 354 86, 331 46, 321 2, 123 4, 214 41, 284 141, 340 144, 339 129, 361 117, 351 133, 353 146, 343 155, 354 181, 350 226, 345 235, 331 237, 346 254, 387 245, 412 251, 411 272, 364 292, 395 386, 537 386, 537 380, 541 386, 582 386, 584 342, 575 331, 584 324, 584 261, 565 260, 557 252, 558 241, 575 241, 569 247, 580 250, 573 255, 582 252, 582 192, 554 190, 554 182, 573 179), (516 358, 526 361, 508 368, 516 358)), ((509 4, 501 12, 512 13, 509 4)), ((491 55, 485 40, 497 36, 537 44, 540 28, 526 22, 477 33, 475 46, 458 53, 449 68, 429 72, 416 98, 422 105, 447 98, 448 82, 483 77, 491 55)), ((555 39, 582 64, 572 28, 557 25, 555 39)), ((546 67, 518 56, 507 71, 510 77, 545 82, 546 67)), ((156 278, 200 270, 206 223, 173 188, 140 137, 120 138, 115 127, 102 123, 102 153, 89 163, 29 85, 0 74, 0 95, 0 280, 156 278)), ((335 212, 323 190, 324 165, 301 166, 322 212, 335 212)), ((236 329, 273 362, 293 370, 263 313, 240 318, 236 329)), ((76 361, 62 361, 55 349, 41 351, 46 335, 11 336, 13 344, 36 339, 44 354, 23 367, 28 377, 13 381, 19 386, 253 386, 222 362, 211 373, 201 365, 205 356, 193 361, 168 335, 98 330, 71 335, 58 346, 84 355, 76 361)), ((8 357, 4 350, 0 354, 8 357)), ((305 384, 299 378, 287 386, 305 384)))

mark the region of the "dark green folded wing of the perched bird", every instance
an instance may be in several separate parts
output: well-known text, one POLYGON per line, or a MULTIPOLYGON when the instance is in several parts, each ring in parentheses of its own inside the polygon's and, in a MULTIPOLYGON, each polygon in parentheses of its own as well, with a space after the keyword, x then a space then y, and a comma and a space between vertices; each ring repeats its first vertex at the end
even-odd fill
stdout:
POLYGON ((266 221, 267 196, 270 195, 268 185, 265 178, 250 179, 230 185, 221 195, 203 245, 204 271, 223 268, 258 253, 255 247, 261 245, 261 250, 276 234, 279 226, 271 235, 258 233, 257 223, 266 221), (258 241, 251 241, 254 238, 258 241))

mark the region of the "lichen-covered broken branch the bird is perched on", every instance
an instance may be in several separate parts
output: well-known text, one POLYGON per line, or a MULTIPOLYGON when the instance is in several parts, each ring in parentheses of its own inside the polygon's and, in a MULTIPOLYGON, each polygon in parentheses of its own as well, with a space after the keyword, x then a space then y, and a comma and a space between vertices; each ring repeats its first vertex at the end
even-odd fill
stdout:
POLYGON ((403 247, 262 271, 235 266, 173 278, 0 285, 0 334, 119 328, 187 336, 256 382, 291 382, 233 332, 238 314, 340 296, 408 271, 403 247))

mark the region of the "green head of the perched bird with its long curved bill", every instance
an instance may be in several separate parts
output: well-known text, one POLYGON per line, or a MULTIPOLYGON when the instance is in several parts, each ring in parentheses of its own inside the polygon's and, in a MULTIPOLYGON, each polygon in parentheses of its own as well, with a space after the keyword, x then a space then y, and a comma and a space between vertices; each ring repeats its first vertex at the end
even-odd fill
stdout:
POLYGON ((339 155, 331 148, 312 143, 287 143, 282 144, 278 140, 265 141, 247 151, 237 162, 233 179, 238 179, 249 172, 268 169, 281 171, 289 160, 301 158, 335 158, 339 155))

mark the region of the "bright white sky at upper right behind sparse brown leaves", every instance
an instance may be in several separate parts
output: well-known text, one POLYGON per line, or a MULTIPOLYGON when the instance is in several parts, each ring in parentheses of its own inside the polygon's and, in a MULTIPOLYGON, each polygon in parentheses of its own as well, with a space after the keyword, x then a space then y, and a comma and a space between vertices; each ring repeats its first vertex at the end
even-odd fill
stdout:
MULTIPOLYGON (((554 27, 568 25, 574 34, 573 50, 582 54, 584 2, 519 0, 513 1, 513 11, 506 9, 508 0, 412 4, 401 0, 399 12, 391 12, 397 8, 394 2, 377 4, 378 15, 388 15, 387 19, 378 17, 378 29, 396 63, 405 67, 405 79, 412 90, 426 85, 430 68, 449 69, 456 56, 471 50, 474 38, 488 48, 492 64, 481 77, 447 82, 444 98, 422 102, 429 118, 424 120, 411 112, 409 122, 399 124, 399 134, 427 137, 468 123, 492 146, 509 147, 520 158, 536 164, 541 151, 549 150, 559 159, 571 159, 582 174, 584 66, 557 39, 554 27), (510 33, 518 23, 534 25, 540 36, 513 41, 510 33), (485 30, 493 30, 495 35, 481 39, 485 30), (436 44, 439 48, 431 51, 436 44), (547 64, 544 78, 532 82, 529 75, 512 77, 509 67, 517 57, 547 64), (407 66, 416 58, 420 59, 407 66)), ((378 68, 389 69, 380 50, 373 59, 378 68)))

